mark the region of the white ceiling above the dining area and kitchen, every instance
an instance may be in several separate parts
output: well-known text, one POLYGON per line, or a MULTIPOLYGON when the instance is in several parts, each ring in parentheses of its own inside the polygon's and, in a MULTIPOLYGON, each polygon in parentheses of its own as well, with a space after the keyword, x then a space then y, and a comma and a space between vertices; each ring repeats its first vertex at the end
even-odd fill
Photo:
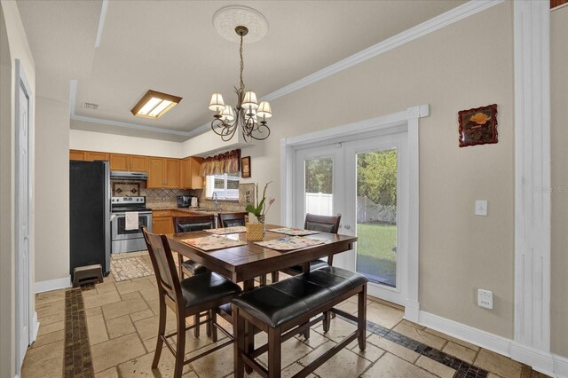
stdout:
MULTIPOLYGON (((244 82, 263 97, 463 3, 241 1, 238 4, 263 13, 269 23, 262 41, 244 46, 244 82)), ((60 97, 67 96, 67 88, 56 89, 56 82, 65 78, 67 86, 69 79, 76 79, 76 115, 158 130, 194 130, 211 120, 211 93, 221 92, 226 103, 236 102, 239 46, 218 35, 212 23, 213 14, 230 4, 235 3, 109 1, 95 48, 102 1, 21 0, 20 15, 36 60, 36 91, 65 99, 60 97), (157 120, 134 117, 130 109, 149 89, 184 99, 157 120), (99 109, 86 109, 85 102, 99 109)), ((286 109, 272 111, 277 116, 286 109)), ((75 126, 103 131, 85 122, 75 126)), ((136 129, 113 125, 104 131, 139 136, 136 129)))

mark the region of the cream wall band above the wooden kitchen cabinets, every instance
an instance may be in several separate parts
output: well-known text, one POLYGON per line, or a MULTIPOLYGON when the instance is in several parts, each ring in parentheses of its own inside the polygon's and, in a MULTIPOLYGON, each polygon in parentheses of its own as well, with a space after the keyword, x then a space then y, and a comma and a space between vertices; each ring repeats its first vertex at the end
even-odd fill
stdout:
MULTIPOLYGON (((69 112, 67 109, 67 119, 69 112)), ((69 122, 67 121, 67 126, 69 122)), ((68 147, 73 150, 102 151, 116 154, 140 154, 182 158, 182 144, 147 138, 124 137, 84 130, 68 130, 68 147)), ((67 155, 68 159, 68 155, 67 155)))

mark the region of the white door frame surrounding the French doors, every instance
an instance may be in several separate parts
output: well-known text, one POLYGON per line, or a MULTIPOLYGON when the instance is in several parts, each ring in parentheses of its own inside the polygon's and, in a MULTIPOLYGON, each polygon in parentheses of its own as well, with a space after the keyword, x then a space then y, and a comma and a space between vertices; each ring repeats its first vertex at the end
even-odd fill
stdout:
POLYGON ((283 225, 294 224, 296 178, 294 169, 296 163, 296 150, 307 145, 328 144, 336 138, 349 140, 360 137, 362 134, 380 133, 384 130, 406 126, 408 130, 408 272, 406 272, 406 287, 408 287, 405 317, 418 322, 420 304, 418 302, 419 288, 419 144, 418 126, 420 118, 430 114, 430 106, 409 107, 405 111, 395 114, 383 115, 365 121, 353 122, 331 129, 319 130, 297 137, 280 139, 280 222, 283 225))

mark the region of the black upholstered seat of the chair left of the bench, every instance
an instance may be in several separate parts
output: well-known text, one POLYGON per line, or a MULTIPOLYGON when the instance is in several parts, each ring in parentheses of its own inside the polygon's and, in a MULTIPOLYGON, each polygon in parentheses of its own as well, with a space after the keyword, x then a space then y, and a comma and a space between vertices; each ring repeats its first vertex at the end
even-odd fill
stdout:
POLYGON ((230 295, 238 295, 242 291, 239 285, 214 272, 190 277, 180 284, 185 307, 214 302, 230 295))

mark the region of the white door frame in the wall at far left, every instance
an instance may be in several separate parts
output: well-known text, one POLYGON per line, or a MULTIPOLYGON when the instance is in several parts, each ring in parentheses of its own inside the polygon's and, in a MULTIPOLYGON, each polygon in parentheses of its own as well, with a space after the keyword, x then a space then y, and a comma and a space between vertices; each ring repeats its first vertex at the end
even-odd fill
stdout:
POLYGON ((35 231, 34 231, 34 197, 33 197, 33 182, 34 182, 34 95, 31 91, 28 79, 24 74, 23 67, 21 65, 20 59, 15 59, 15 83, 14 88, 14 124, 15 124, 15 148, 14 148, 14 216, 15 224, 15 269, 16 269, 16 373, 20 374, 21 364, 24 360, 25 352, 23 355, 20 352, 20 343, 22 338, 27 338, 28 343, 33 343, 36 340, 37 331, 39 328, 39 323, 37 322, 37 313, 35 309, 34 301, 34 272, 33 272, 33 261, 34 261, 34 249, 35 249, 35 231), (27 194, 27 198, 21 198, 22 190, 20 188, 20 174, 21 174, 21 164, 20 153, 18 147, 20 146, 20 89, 24 91, 26 97, 28 97, 28 123, 26 127, 28 128, 28 187, 23 193, 27 194), (20 264, 20 201, 28 201, 28 212, 25 217, 28 217, 28 264, 26 266, 21 266, 20 264), (28 274, 25 274, 27 272, 28 274), (28 285, 23 285, 24 278, 28 279, 28 285), (20 288, 19 288, 20 287, 20 288), (26 292, 23 291, 23 287, 27 287, 26 292), (21 306, 20 303, 28 303, 28 335, 20 335, 20 323, 21 323, 21 306))

